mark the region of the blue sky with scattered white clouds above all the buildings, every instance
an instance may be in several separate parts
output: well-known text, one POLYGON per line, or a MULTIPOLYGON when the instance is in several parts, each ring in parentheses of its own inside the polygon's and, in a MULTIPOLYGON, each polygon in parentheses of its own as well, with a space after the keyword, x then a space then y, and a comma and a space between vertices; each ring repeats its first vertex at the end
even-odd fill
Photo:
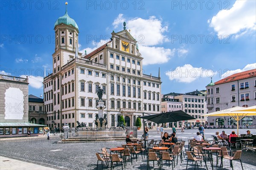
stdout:
MULTIPOLYGON (((137 39, 144 74, 158 76, 162 94, 204 90, 219 79, 256 68, 256 1, 67 1, 88 52, 122 31, 137 39)), ((43 94, 44 66, 52 73, 54 23, 65 1, 0 2, 1 74, 29 78, 43 94)))

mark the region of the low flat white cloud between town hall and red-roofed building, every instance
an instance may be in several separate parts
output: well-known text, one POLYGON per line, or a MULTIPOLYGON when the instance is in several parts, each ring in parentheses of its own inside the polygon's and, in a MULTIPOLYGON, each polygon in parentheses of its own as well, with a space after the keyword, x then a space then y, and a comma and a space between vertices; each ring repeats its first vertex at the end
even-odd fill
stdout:
POLYGON ((170 80, 176 80, 177 82, 185 82, 190 83, 199 78, 204 77, 212 77, 216 73, 212 69, 205 68, 196 68, 190 64, 185 64, 183 66, 178 66, 171 71, 167 71, 166 76, 169 77, 170 80))

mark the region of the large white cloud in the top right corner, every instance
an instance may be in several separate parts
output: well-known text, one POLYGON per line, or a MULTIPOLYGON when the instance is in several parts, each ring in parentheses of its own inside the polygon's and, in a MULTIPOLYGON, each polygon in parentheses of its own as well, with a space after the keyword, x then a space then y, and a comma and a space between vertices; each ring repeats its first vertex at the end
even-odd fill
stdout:
POLYGON ((208 23, 222 38, 224 35, 243 35, 248 32, 255 34, 255 13, 255 0, 236 0, 232 8, 219 11, 211 20, 208 20, 208 23))

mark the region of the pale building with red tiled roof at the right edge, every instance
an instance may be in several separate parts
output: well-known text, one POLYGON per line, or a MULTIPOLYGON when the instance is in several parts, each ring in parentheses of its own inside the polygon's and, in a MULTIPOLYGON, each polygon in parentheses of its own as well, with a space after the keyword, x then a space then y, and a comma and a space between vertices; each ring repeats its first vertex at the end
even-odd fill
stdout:
MULTIPOLYGON (((207 88, 208 113, 233 108, 256 105, 256 69, 243 71, 211 82, 207 88)), ((256 115, 241 119, 239 125, 256 125, 256 115)), ((208 116, 209 125, 237 125, 233 118, 225 116, 208 116)))

